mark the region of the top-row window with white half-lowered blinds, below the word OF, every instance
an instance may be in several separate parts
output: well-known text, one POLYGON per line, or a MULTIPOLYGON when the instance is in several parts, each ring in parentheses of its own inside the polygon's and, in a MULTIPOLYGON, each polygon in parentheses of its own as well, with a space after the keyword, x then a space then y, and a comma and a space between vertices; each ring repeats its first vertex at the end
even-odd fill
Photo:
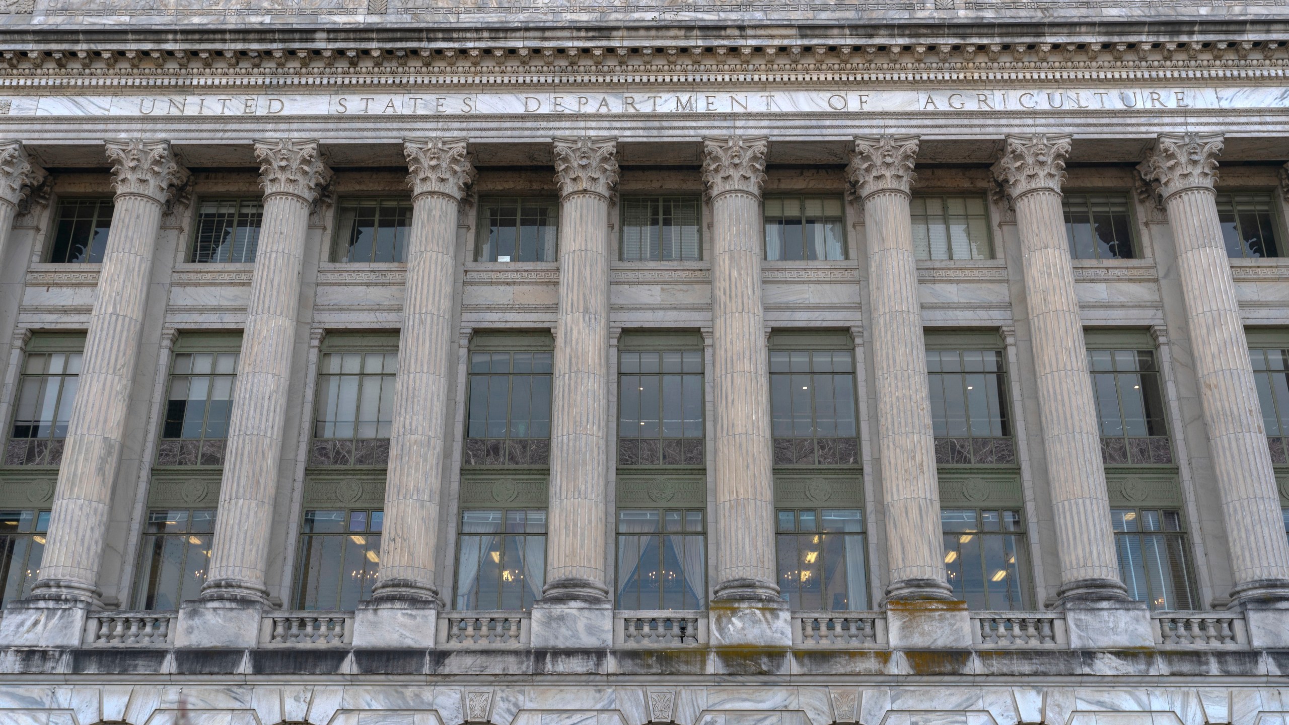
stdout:
POLYGON ((846 259, 840 197, 770 196, 766 259, 846 259))

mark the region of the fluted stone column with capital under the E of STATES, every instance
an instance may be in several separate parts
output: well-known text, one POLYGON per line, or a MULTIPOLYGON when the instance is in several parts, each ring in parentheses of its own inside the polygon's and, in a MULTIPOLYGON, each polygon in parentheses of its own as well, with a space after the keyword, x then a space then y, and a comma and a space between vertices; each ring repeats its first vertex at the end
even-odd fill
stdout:
POLYGON ((434 543, 442 490, 449 374, 456 360, 452 329, 456 221, 474 181, 465 139, 407 139, 412 226, 407 235, 407 292, 398 338, 380 579, 373 599, 441 604, 434 543))

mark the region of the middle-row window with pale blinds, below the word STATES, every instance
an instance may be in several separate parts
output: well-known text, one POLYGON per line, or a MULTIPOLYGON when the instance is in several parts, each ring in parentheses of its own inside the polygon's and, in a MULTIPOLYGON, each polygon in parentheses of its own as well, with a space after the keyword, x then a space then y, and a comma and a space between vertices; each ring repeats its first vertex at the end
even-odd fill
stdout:
POLYGON ((389 462, 397 352, 326 352, 318 361, 309 466, 389 462))

